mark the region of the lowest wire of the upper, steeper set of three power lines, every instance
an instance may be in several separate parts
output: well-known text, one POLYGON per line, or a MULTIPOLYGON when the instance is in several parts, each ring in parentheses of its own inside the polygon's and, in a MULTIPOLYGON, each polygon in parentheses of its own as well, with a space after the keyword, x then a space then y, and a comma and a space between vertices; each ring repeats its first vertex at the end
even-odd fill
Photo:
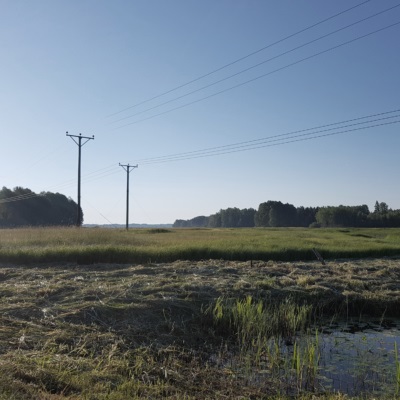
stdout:
POLYGON ((311 59, 313 59, 313 58, 316 58, 316 57, 318 57, 318 56, 321 56, 322 54, 325 54, 325 53, 328 53, 328 52, 330 52, 330 51, 336 50, 336 49, 341 48, 341 47, 343 47, 343 46, 347 46, 347 45, 349 45, 349 44, 351 44, 351 43, 354 43, 354 42, 356 42, 356 41, 358 41, 358 40, 365 39, 366 37, 369 37, 369 36, 372 36, 372 35, 377 34, 377 33, 379 33, 379 32, 382 32, 382 31, 384 31, 384 30, 386 30, 386 29, 393 28, 394 26, 397 26, 397 25, 399 25, 399 24, 400 24, 400 21, 395 22, 395 23, 390 24, 390 25, 386 25, 386 26, 383 27, 383 28, 376 29, 376 30, 374 30, 374 31, 372 31, 372 32, 368 32, 368 33, 366 33, 366 34, 364 34, 364 35, 361 35, 361 36, 358 36, 358 37, 356 37, 356 38, 354 38, 354 39, 351 39, 351 40, 348 40, 348 41, 346 41, 346 42, 340 43, 340 44, 338 44, 338 45, 336 45, 336 46, 333 46, 333 47, 330 47, 330 48, 328 48, 328 49, 319 51, 319 52, 314 53, 314 54, 312 54, 312 55, 310 55, 310 56, 301 58, 300 60, 294 61, 294 62, 292 62, 292 63, 290 63, 290 64, 286 64, 286 65, 284 65, 283 67, 279 67, 279 68, 277 68, 277 69, 275 69, 275 70, 269 71, 269 72, 267 72, 267 73, 265 73, 265 74, 259 75, 259 76, 255 77, 255 78, 249 79, 249 80, 247 80, 247 81, 238 83, 237 85, 234 85, 234 86, 231 86, 231 87, 229 87, 229 88, 226 88, 226 89, 220 90, 220 91, 218 91, 218 92, 212 93, 212 94, 210 94, 210 95, 208 95, 208 96, 201 97, 201 98, 199 98, 199 99, 197 99, 197 100, 193 100, 193 101, 191 101, 191 102, 189 102, 189 103, 186 103, 186 104, 183 104, 183 105, 180 105, 180 106, 171 108, 171 109, 169 109, 169 110, 166 110, 166 111, 163 111, 163 112, 160 112, 160 113, 157 113, 157 114, 153 114, 153 115, 151 115, 151 116, 149 116, 149 117, 142 118, 142 119, 139 119, 139 120, 136 120, 136 121, 133 121, 133 122, 130 122, 130 123, 127 123, 127 124, 118 126, 118 127, 114 128, 114 130, 121 129, 121 128, 124 128, 124 127, 126 127, 126 126, 130 126, 130 125, 138 124, 138 123, 140 123, 140 122, 147 121, 147 120, 149 120, 149 119, 153 119, 153 118, 159 117, 159 116, 161 116, 161 115, 168 114, 168 113, 173 112, 173 111, 180 110, 180 109, 182 109, 182 108, 191 106, 191 105, 193 105, 193 104, 200 103, 201 101, 204 101, 204 100, 210 99, 210 98, 212 98, 212 97, 218 96, 218 95, 220 95, 220 94, 222 94, 222 93, 226 93, 226 92, 231 91, 231 90, 233 90, 233 89, 237 89, 237 88, 242 87, 242 86, 244 86, 244 85, 247 85, 247 84, 249 84, 249 83, 255 82, 255 81, 259 80, 259 79, 265 78, 265 77, 267 77, 267 76, 269 76, 269 75, 272 75, 272 74, 275 74, 275 73, 277 73, 277 72, 283 71, 283 70, 285 70, 285 69, 287 69, 287 68, 293 67, 293 66, 295 66, 295 65, 297 65, 297 64, 300 64, 300 63, 302 63, 302 62, 305 62, 305 61, 311 60, 311 59))

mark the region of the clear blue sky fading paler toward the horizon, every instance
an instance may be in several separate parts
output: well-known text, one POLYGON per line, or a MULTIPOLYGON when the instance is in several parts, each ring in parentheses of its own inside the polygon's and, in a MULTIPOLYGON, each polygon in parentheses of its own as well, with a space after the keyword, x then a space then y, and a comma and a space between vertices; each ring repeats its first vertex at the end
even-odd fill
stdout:
POLYGON ((120 163, 130 223, 399 209, 399 38, 391 0, 0 0, 0 187, 77 201, 68 131, 86 224, 125 223, 120 163))

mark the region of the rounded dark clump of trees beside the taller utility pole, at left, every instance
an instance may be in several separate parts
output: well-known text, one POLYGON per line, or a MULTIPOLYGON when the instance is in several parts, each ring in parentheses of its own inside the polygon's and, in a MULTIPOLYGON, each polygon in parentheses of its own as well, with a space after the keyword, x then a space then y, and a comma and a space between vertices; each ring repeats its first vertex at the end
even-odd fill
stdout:
MULTIPOLYGON (((77 223, 77 204, 60 193, 16 187, 0 190, 0 228, 69 226, 77 223)), ((83 222, 81 212, 80 224, 83 222)))

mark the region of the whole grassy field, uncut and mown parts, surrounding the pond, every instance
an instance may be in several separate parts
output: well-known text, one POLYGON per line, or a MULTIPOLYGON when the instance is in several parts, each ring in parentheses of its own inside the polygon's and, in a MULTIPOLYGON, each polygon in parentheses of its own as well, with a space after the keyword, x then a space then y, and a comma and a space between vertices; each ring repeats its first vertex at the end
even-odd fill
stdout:
POLYGON ((327 319, 399 318, 399 235, 1 230, 0 399, 349 399, 305 387, 312 346, 288 359, 279 343, 327 319))

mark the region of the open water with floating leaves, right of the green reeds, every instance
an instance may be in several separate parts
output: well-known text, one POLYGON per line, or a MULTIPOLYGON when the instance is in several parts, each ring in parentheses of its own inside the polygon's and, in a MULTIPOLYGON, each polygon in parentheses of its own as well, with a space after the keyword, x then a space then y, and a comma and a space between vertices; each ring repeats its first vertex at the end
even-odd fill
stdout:
POLYGON ((399 321, 331 326, 316 341, 319 387, 350 396, 399 393, 399 321))

